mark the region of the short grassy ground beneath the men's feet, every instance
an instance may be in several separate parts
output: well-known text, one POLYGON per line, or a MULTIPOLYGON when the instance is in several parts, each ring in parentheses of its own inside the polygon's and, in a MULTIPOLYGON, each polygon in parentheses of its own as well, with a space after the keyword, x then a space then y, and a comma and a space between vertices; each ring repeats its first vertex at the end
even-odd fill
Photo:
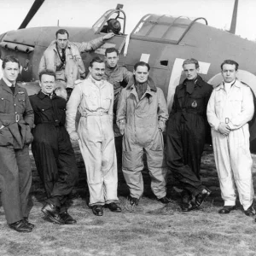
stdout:
MULTIPOLYGON (((212 154, 204 155, 203 165, 207 163, 212 163, 212 154)), ((45 221, 40 211, 44 193, 38 189, 32 195, 30 215, 36 228, 29 234, 10 230, 1 207, 0 255, 256 255, 256 223, 242 212, 239 202, 236 211, 219 215, 222 201, 217 193, 200 210, 183 213, 177 189, 168 188, 172 202, 165 206, 150 192, 147 176, 145 181, 146 193, 138 207, 131 209, 126 207, 127 188, 120 177, 123 212, 104 209, 102 217, 93 215, 87 206, 87 189, 76 189, 69 209, 78 221, 74 225, 45 221)))

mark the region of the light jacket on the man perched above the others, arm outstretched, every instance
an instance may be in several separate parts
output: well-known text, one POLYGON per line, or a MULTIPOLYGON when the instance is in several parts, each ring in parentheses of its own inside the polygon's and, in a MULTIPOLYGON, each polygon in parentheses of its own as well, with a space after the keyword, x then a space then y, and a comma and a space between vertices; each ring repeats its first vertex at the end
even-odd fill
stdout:
MULTIPOLYGON (((77 67, 79 67, 80 75, 82 77, 85 77, 84 62, 81 58, 80 53, 84 51, 97 49, 102 44, 104 44, 103 38, 96 38, 91 40, 90 42, 83 43, 68 42, 66 49, 66 61, 68 59, 73 59, 77 67)), ((54 40, 51 44, 49 44, 49 47, 44 51, 44 55, 42 56, 41 61, 39 63, 38 73, 45 69, 52 70, 56 73, 56 79, 61 79, 65 81, 65 68, 57 70, 57 67, 59 66, 61 66, 61 59, 57 52, 56 40, 54 40)))

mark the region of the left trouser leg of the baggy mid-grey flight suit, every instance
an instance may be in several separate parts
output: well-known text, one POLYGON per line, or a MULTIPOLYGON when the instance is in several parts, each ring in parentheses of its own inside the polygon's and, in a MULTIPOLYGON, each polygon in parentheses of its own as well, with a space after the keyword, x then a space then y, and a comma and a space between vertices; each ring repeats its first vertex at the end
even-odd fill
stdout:
POLYGON ((125 182, 130 189, 131 197, 140 198, 143 195, 143 148, 127 147, 128 135, 123 138, 123 167, 125 182))

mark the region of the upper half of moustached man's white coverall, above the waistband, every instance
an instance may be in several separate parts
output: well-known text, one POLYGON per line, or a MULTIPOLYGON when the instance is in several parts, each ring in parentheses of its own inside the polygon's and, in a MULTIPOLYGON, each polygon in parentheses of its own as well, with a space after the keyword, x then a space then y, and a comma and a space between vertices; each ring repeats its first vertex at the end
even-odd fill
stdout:
POLYGON ((77 109, 81 116, 108 114, 113 121, 113 85, 102 80, 97 85, 96 80, 89 76, 77 84, 67 102, 67 131, 76 131, 75 118, 77 109))

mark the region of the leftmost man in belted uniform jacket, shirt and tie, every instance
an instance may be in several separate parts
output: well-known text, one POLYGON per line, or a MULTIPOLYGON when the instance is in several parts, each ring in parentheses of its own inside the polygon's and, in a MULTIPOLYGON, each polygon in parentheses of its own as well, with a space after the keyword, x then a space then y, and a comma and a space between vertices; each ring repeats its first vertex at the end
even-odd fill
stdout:
POLYGON ((16 84, 20 61, 13 55, 3 60, 0 80, 0 189, 5 218, 18 232, 31 232, 28 195, 32 171, 28 145, 32 142, 34 114, 26 89, 16 84))

